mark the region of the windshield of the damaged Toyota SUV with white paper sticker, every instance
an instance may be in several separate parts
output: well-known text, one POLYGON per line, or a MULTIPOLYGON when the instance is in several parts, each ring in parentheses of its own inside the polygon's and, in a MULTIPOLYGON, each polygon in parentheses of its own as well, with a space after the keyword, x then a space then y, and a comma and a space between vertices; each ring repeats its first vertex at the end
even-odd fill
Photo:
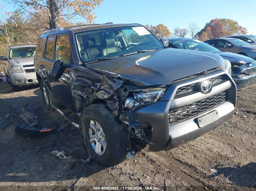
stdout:
POLYGON ((84 62, 122 56, 143 50, 162 49, 163 44, 145 27, 111 27, 75 34, 84 62))

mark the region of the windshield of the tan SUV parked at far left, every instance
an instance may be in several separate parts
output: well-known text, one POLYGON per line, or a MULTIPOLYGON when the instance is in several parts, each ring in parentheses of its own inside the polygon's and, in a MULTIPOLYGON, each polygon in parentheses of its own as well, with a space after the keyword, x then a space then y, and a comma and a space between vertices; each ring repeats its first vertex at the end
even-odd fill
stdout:
POLYGON ((10 49, 10 59, 35 56, 35 46, 10 49))

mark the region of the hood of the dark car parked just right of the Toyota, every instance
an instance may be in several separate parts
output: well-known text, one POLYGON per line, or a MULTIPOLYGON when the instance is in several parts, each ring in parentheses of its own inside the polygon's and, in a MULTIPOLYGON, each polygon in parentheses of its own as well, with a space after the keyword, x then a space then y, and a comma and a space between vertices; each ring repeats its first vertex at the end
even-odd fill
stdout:
POLYGON ((256 62, 254 59, 248 56, 243 56, 241 54, 228 52, 221 52, 216 54, 220 55, 223 59, 229 60, 232 65, 244 65, 246 63, 256 62))

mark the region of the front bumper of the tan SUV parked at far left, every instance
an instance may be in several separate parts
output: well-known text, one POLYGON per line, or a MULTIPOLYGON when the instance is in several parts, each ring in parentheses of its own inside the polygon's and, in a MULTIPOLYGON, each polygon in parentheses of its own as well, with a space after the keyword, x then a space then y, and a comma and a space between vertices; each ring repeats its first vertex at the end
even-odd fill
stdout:
POLYGON ((11 78, 12 84, 15 86, 23 86, 23 85, 30 85, 30 84, 38 84, 36 79, 35 72, 31 73, 9 73, 9 78, 11 78))

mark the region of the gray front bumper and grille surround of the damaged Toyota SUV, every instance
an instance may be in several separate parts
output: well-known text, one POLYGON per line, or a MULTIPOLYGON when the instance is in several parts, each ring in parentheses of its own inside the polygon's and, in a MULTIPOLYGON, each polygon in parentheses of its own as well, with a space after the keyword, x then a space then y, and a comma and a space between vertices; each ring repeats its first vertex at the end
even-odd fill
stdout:
POLYGON ((225 72, 217 71, 211 72, 211 74, 205 74, 203 78, 199 76, 171 84, 160 101, 151 105, 141 106, 135 112, 135 118, 138 121, 147 122, 152 128, 149 151, 169 150, 205 134, 230 119, 234 114, 235 103, 236 85, 234 81, 225 72), (179 87, 198 81, 204 81, 218 75, 225 75, 228 80, 212 87, 210 93, 202 94, 201 92, 197 92, 184 97, 175 97, 175 92, 179 87), (228 94, 226 102, 204 113, 200 113, 197 116, 188 118, 185 121, 169 125, 169 110, 204 100, 205 98, 214 96, 223 91, 227 91, 228 94), (213 110, 218 111, 219 119, 200 128, 195 119, 213 110))

